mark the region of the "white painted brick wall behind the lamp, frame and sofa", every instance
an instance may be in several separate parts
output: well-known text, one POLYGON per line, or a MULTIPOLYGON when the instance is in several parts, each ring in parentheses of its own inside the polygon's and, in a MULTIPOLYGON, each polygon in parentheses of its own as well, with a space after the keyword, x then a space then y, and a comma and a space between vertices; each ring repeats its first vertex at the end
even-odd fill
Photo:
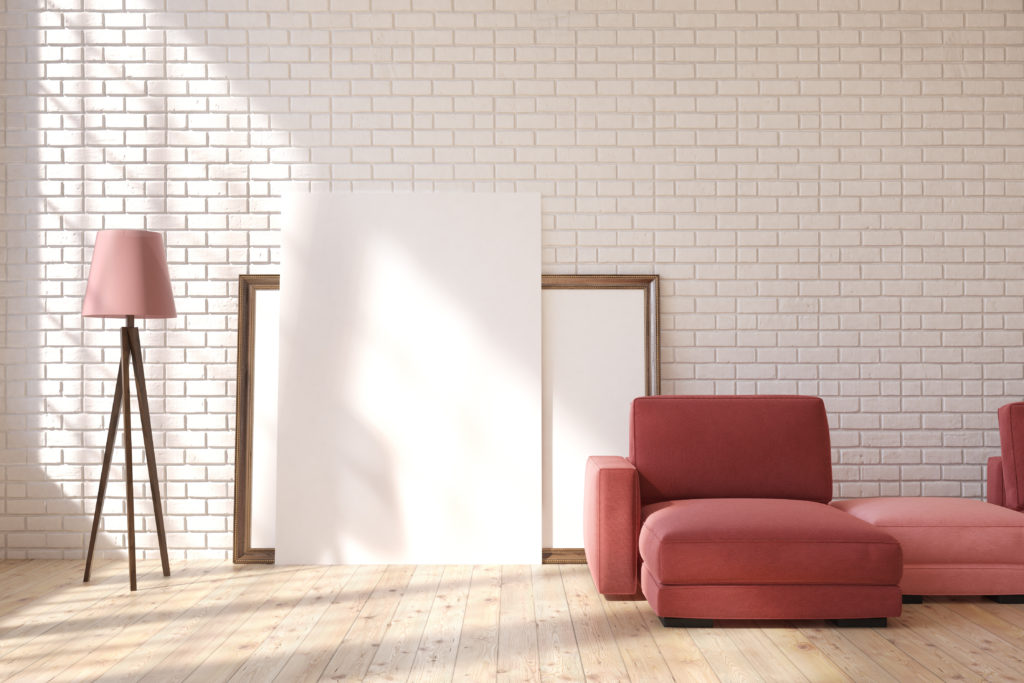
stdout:
POLYGON ((291 183, 539 191, 546 272, 663 276, 666 393, 819 394, 838 495, 983 495, 1024 394, 1021 0, 0 4, 6 557, 83 554, 118 323, 80 300, 126 226, 178 296, 142 332, 172 554, 228 556, 236 282, 291 183))

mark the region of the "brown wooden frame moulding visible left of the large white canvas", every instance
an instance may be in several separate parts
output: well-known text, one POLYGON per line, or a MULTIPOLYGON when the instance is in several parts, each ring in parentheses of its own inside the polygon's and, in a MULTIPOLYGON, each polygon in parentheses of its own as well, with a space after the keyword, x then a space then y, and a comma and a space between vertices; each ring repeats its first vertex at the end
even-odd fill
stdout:
MULTIPOLYGON (((281 289, 281 275, 239 275, 238 385, 234 436, 234 528, 232 558, 237 564, 273 564, 274 549, 252 545, 254 407, 259 368, 256 365, 256 310, 260 292, 281 289)), ((276 342, 276 340, 274 340, 276 342)), ((276 378, 274 379, 274 384, 276 378)), ((274 397, 274 401, 276 398, 274 397)), ((269 444, 276 449, 276 444, 269 444)), ((256 475, 258 476, 258 474, 256 475)), ((265 482, 264 482, 265 483, 265 482)), ((273 484, 273 482, 270 482, 273 484)), ((274 511, 270 510, 269 514, 274 511)))

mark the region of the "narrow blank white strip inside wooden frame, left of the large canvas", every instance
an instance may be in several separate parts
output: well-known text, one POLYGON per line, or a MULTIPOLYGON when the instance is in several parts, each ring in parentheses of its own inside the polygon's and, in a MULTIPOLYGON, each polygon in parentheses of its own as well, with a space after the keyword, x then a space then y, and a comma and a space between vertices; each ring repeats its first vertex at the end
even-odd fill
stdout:
POLYGON ((253 292, 253 424, 249 544, 273 548, 278 488, 278 332, 281 292, 253 292))

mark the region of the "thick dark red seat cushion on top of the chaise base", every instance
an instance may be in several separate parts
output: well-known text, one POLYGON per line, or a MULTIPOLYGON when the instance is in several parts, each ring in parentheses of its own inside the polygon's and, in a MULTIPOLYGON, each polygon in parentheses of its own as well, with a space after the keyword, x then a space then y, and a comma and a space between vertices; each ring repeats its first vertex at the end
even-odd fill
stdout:
POLYGON ((663 585, 895 586, 899 544, 837 508, 691 499, 643 508, 640 556, 663 585))

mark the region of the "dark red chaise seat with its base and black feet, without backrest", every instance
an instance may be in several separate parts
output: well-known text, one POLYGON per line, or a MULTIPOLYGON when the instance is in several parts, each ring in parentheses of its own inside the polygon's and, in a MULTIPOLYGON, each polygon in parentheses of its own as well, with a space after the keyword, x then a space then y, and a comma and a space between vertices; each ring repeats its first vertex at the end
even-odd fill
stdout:
POLYGON ((826 618, 884 626, 880 617, 900 612, 899 544, 826 504, 694 499, 645 506, 642 515, 640 584, 667 625, 826 618))

